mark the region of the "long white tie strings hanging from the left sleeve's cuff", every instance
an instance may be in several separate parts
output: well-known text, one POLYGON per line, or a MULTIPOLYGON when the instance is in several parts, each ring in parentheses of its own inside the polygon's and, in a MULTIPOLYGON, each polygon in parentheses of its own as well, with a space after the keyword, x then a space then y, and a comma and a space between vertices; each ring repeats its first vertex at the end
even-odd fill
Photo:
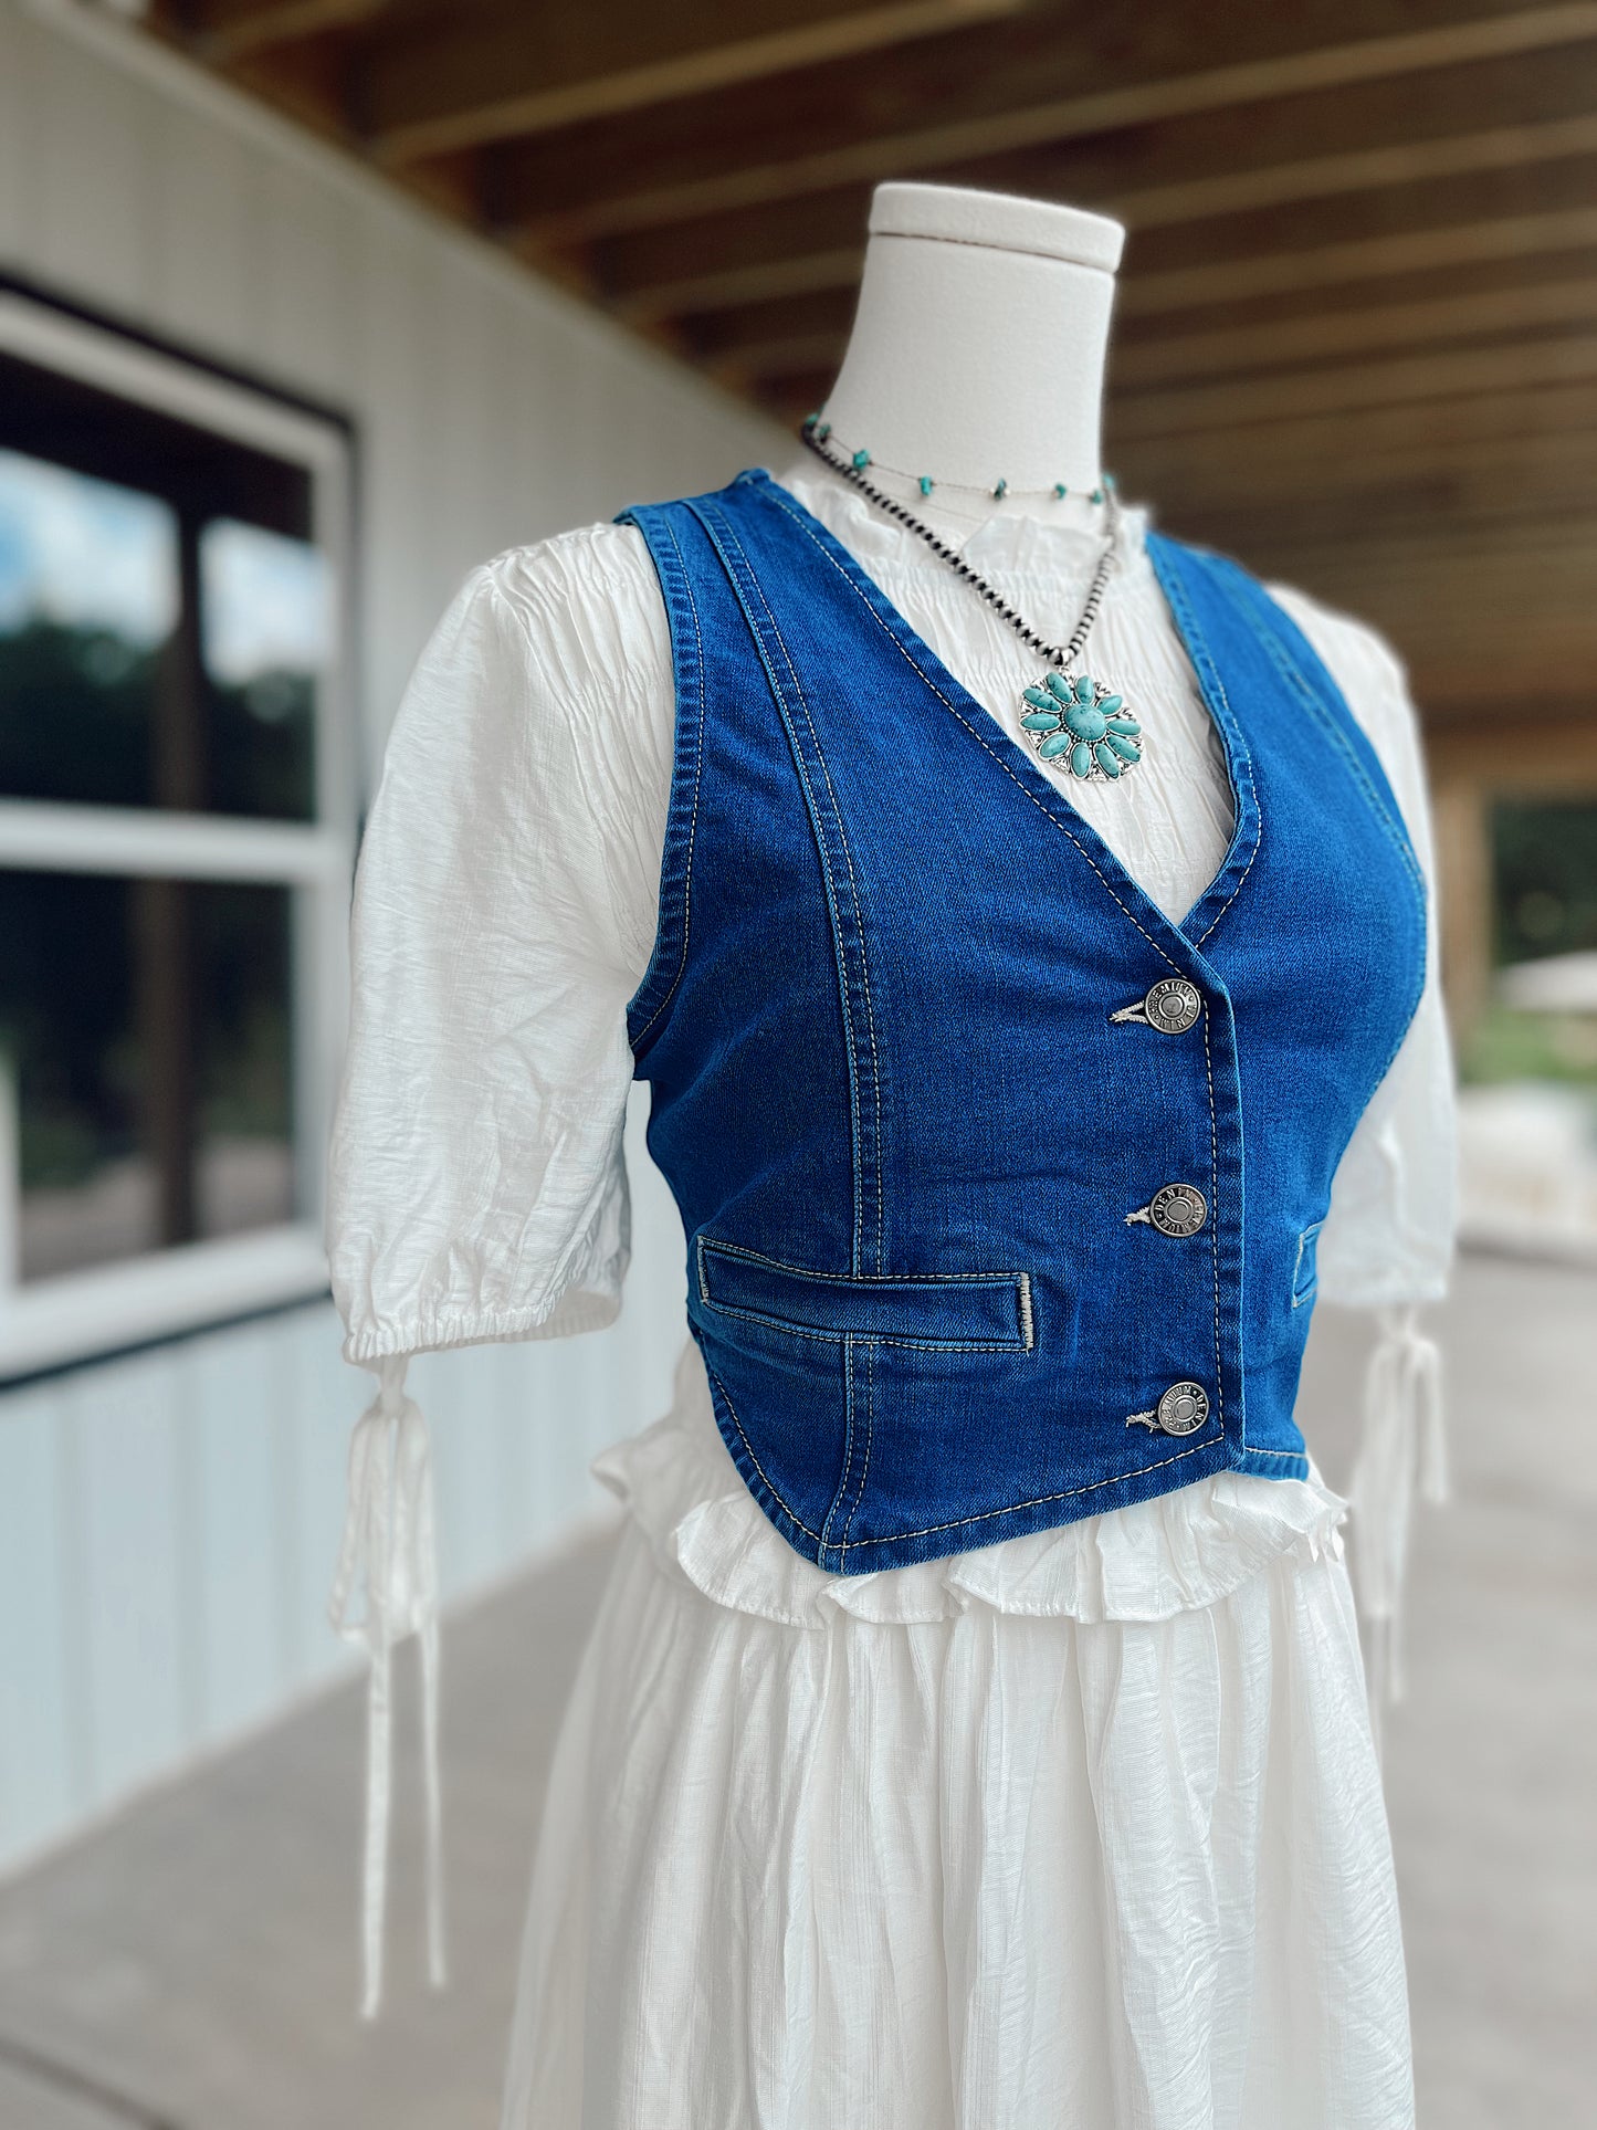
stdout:
POLYGON ((371 1363, 379 1391, 349 1444, 349 1508, 328 1604, 332 1625, 368 1657, 366 1840, 362 1859, 362 2017, 383 1994, 383 1911, 392 1798, 394 1649, 417 1640, 422 1672, 422 1781, 426 1806, 428 1979, 445 1983, 439 1806, 439 1549, 432 1446, 422 1408, 405 1395, 407 1355, 371 1363), (356 1587, 364 1602, 353 1612, 356 1587))

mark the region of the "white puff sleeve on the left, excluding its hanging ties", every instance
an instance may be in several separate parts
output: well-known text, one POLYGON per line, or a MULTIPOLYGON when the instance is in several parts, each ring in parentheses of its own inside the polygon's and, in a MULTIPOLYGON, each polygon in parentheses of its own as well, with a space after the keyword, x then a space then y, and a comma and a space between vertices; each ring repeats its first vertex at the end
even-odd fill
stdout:
POLYGON ((479 569, 439 622, 360 848, 326 1235, 349 1361, 620 1308, 635 941, 539 575, 479 569))

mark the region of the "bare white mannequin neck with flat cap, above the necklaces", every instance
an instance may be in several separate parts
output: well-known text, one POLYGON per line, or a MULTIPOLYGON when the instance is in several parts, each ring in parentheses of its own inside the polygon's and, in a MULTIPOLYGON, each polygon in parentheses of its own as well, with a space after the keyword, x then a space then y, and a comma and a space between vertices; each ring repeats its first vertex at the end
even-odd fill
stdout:
POLYGON ((867 477, 926 520, 1056 518, 1056 481, 1086 494, 1103 477, 1122 236, 1073 207, 877 187, 854 330, 822 411, 830 449, 869 449, 867 477), (922 473, 935 481, 924 498, 922 473))

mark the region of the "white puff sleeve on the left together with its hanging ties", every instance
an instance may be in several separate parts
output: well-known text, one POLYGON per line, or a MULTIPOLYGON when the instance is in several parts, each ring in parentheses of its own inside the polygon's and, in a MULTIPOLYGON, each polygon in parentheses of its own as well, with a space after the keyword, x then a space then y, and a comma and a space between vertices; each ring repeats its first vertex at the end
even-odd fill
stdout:
MULTIPOLYGON (((618 1314, 630 1248, 626 1001, 664 807, 664 616, 611 526, 477 569, 394 718, 356 867, 326 1246, 358 1419, 334 1625, 368 1670, 364 2011, 381 1994, 392 1651, 422 1653, 428 1951, 443 1981, 439 1578, 413 1353, 618 1314), (630 567, 628 567, 630 564, 630 567), (654 837, 654 841, 652 841, 654 837)), ((669 726, 666 726, 669 733, 669 726)))

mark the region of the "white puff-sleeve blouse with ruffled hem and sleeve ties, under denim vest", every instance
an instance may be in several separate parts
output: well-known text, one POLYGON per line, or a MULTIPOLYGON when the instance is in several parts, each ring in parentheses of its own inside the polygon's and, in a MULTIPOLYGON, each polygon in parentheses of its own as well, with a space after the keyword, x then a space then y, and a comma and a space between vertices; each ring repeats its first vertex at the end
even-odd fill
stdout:
MULTIPOLYGON (((843 481, 801 462, 784 486, 1024 746, 1020 690, 1035 679, 1035 654, 843 481)), ((1146 526, 1146 509, 1124 511, 1120 562, 1090 641, 1090 669, 1141 720, 1143 763, 1120 784, 1086 786, 1056 765, 1039 767, 1180 920, 1222 863, 1231 790, 1146 526)), ((1069 498, 1048 520, 988 518, 962 552, 1037 628, 1063 637, 1080 613, 1101 532, 1097 513, 1069 498)), ((1365 728, 1433 878, 1425 771, 1399 660, 1363 624, 1301 592, 1271 592, 1365 728)), ((626 1001, 654 948, 673 720, 671 639, 643 537, 596 524, 511 550, 466 579, 388 741, 356 878, 353 1010, 328 1176, 343 1353, 381 1376, 362 1421, 364 1459, 358 1438, 339 1591, 343 1602, 364 1572, 366 1619, 349 1632, 377 1657, 379 1821, 379 1672, 392 1640, 413 1627, 430 1634, 434 1589, 426 1438, 402 1393, 405 1357, 594 1329, 620 1308, 628 1263, 622 1127, 632 1080, 626 1001), (383 1451, 402 1459, 394 1529, 377 1485, 383 1451)), ((1412 1314, 1446 1291, 1454 1235, 1452 1063, 1435 907, 1429 946, 1418 1014, 1341 1159, 1318 1244, 1324 1299, 1386 1312, 1352 1489, 1361 1595, 1367 1617, 1384 1623, 1397 1612, 1420 1465, 1439 1482, 1435 1355, 1412 1314)), ((871 1617, 926 1617, 941 1591, 975 1578, 999 1610, 1158 1619, 1209 1602, 1248 1563, 1305 1534, 1335 1542, 1329 1527, 1346 1506, 1318 1474, 1226 1472, 948 1561, 826 1576, 790 1553, 741 1487, 692 1361, 688 1344, 673 1412, 605 1453, 596 1470, 701 1587, 767 1617, 801 1617, 822 1600, 871 1617)), ((373 1966, 375 1928, 368 1915, 373 1966)))

